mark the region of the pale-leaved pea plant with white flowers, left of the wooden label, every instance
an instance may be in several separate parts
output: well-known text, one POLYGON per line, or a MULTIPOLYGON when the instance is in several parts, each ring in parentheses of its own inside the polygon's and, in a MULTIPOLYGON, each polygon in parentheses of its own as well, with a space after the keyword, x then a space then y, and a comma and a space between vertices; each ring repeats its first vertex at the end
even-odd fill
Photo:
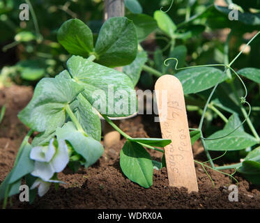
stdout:
POLYGON ((33 98, 18 114, 30 130, 13 169, 1 183, 4 208, 8 197, 19 193, 22 179, 30 188, 32 202, 36 187, 41 197, 52 183, 56 188, 63 183, 57 174, 67 165, 77 171, 81 165, 87 168, 100 158, 104 148, 100 143, 98 112, 127 139, 120 153, 121 169, 142 187, 153 184, 153 160, 146 148, 163 153, 157 147, 171 143, 169 139, 132 138, 109 119, 137 112, 132 79, 113 69, 128 66, 137 56, 137 33, 131 20, 110 18, 94 41, 89 26, 71 19, 62 24, 57 38, 72 56, 66 62, 66 70, 38 82, 33 98), (30 144, 33 132, 38 134, 30 144))

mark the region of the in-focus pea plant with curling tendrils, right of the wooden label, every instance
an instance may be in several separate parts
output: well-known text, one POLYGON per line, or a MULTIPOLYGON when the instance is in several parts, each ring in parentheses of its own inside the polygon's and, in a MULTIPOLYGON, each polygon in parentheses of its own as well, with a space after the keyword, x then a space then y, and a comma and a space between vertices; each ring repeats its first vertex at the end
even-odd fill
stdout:
MULTIPOLYGON (((254 38, 259 36, 260 31, 247 43, 250 45, 254 38)), ((230 38, 230 36, 229 36, 230 38)), ((227 45, 228 41, 227 40, 227 45)), ((245 45, 245 47, 247 47, 245 45)), ((208 95, 208 99, 206 100, 206 105, 204 106, 204 111, 201 116, 201 120, 199 122, 199 128, 193 129, 191 132, 191 136, 194 139, 201 139, 202 145, 204 146, 204 151, 206 156, 208 157, 208 161, 211 164, 211 167, 206 165, 206 162, 195 162, 201 164, 201 166, 208 167, 209 169, 213 169, 215 171, 220 171, 222 169, 236 169, 236 171, 243 174, 247 180, 250 180, 255 185, 260 184, 260 137, 257 131, 250 121, 250 113, 251 113, 251 105, 246 101, 247 97, 247 88, 243 82, 243 79, 240 78, 239 75, 243 77, 247 77, 251 79, 253 82, 259 83, 259 75, 260 71, 257 68, 243 68, 236 72, 231 65, 238 59, 238 56, 243 53, 245 47, 239 52, 239 54, 232 60, 230 63, 226 64, 209 64, 204 66, 192 66, 188 68, 177 68, 178 59, 169 58, 165 60, 165 66, 168 66, 167 61, 174 59, 176 61, 176 70, 182 70, 181 72, 177 72, 176 77, 181 80, 183 84, 183 91, 185 94, 190 93, 198 93, 200 91, 204 91, 206 89, 212 89, 212 91, 208 95), (216 66, 224 67, 224 71, 219 70, 217 68, 212 68, 216 66), (185 69, 185 70, 184 70, 185 69), (187 69, 187 70, 186 70, 187 69), (236 82, 236 79, 231 76, 231 72, 234 73, 236 77, 240 80, 242 84, 239 85, 239 82, 236 82), (226 81, 226 83, 225 83, 226 81), (219 89, 217 86, 222 83, 219 89), (241 87, 243 86, 243 87, 241 87), (245 90, 245 95, 242 95, 243 89, 245 90), (214 97, 214 93, 216 92, 217 97, 214 97), (226 96, 225 96, 226 95, 226 96), (243 107, 243 105, 247 105, 248 109, 243 107), (223 109, 226 112, 231 113, 229 118, 226 118, 219 109, 223 109), (206 109, 212 109, 222 120, 224 121, 224 129, 219 130, 209 137, 204 137, 204 133, 202 131, 204 118, 206 116, 206 109), (243 121, 240 121, 240 116, 244 117, 243 121), (243 123, 247 122, 252 135, 245 132, 243 128, 243 123), (219 159, 217 157, 215 159, 211 158, 209 151, 224 151, 224 154, 220 157, 229 153, 229 155, 234 156, 236 152, 239 151, 241 155, 241 151, 243 151, 245 157, 240 160, 241 162, 237 164, 224 165, 220 167, 215 167, 213 160, 219 159), (234 153, 235 152, 235 153, 234 153)), ((228 61, 228 60, 227 60, 228 61)), ((206 169, 204 168, 206 171, 206 169)), ((226 174, 220 171, 222 174, 226 174)), ((208 174, 208 173, 207 173, 208 174)), ((226 174, 231 176, 234 180, 236 180, 233 175, 234 174, 226 174)), ((209 176, 210 177, 210 176, 209 176)), ((213 180, 212 180, 213 182, 213 180)), ((237 180, 236 180, 237 182, 237 180)), ((238 183, 238 182, 237 182, 238 183)))

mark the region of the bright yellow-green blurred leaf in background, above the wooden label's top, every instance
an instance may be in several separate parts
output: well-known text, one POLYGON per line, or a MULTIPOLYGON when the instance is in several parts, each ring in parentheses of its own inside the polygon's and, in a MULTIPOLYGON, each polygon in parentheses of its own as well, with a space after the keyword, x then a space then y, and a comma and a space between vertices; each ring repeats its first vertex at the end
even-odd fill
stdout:
POLYGON ((156 10, 153 17, 162 31, 164 31, 169 37, 174 36, 177 27, 167 13, 162 13, 160 10, 156 10))

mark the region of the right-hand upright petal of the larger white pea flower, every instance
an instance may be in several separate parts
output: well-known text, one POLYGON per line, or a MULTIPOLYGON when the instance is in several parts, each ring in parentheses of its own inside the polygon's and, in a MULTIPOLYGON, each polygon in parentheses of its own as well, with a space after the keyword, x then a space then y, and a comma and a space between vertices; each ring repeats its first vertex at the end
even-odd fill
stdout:
POLYGON ((59 173, 63 171, 69 160, 70 158, 68 155, 68 147, 66 145, 66 142, 65 140, 59 140, 57 151, 49 164, 51 164, 56 173, 59 173))

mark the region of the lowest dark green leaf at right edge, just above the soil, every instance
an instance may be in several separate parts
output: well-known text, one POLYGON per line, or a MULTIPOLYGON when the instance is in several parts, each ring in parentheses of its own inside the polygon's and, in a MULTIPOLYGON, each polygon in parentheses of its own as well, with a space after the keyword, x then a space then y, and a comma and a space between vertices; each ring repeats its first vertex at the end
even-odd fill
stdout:
POLYGON ((238 172, 255 185, 260 185, 260 163, 252 160, 245 160, 238 172))

